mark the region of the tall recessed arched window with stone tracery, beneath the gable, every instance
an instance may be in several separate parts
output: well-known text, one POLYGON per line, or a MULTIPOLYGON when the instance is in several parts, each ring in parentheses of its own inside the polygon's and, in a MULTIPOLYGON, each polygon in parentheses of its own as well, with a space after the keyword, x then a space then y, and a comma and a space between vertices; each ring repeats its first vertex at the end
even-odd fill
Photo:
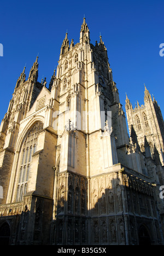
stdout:
POLYGON ((30 164, 32 161, 32 154, 36 152, 38 133, 43 129, 43 123, 36 123, 31 131, 28 133, 25 142, 22 146, 20 156, 20 172, 17 181, 17 191, 16 191, 16 202, 22 201, 23 196, 27 192, 28 178, 30 174, 30 164))

